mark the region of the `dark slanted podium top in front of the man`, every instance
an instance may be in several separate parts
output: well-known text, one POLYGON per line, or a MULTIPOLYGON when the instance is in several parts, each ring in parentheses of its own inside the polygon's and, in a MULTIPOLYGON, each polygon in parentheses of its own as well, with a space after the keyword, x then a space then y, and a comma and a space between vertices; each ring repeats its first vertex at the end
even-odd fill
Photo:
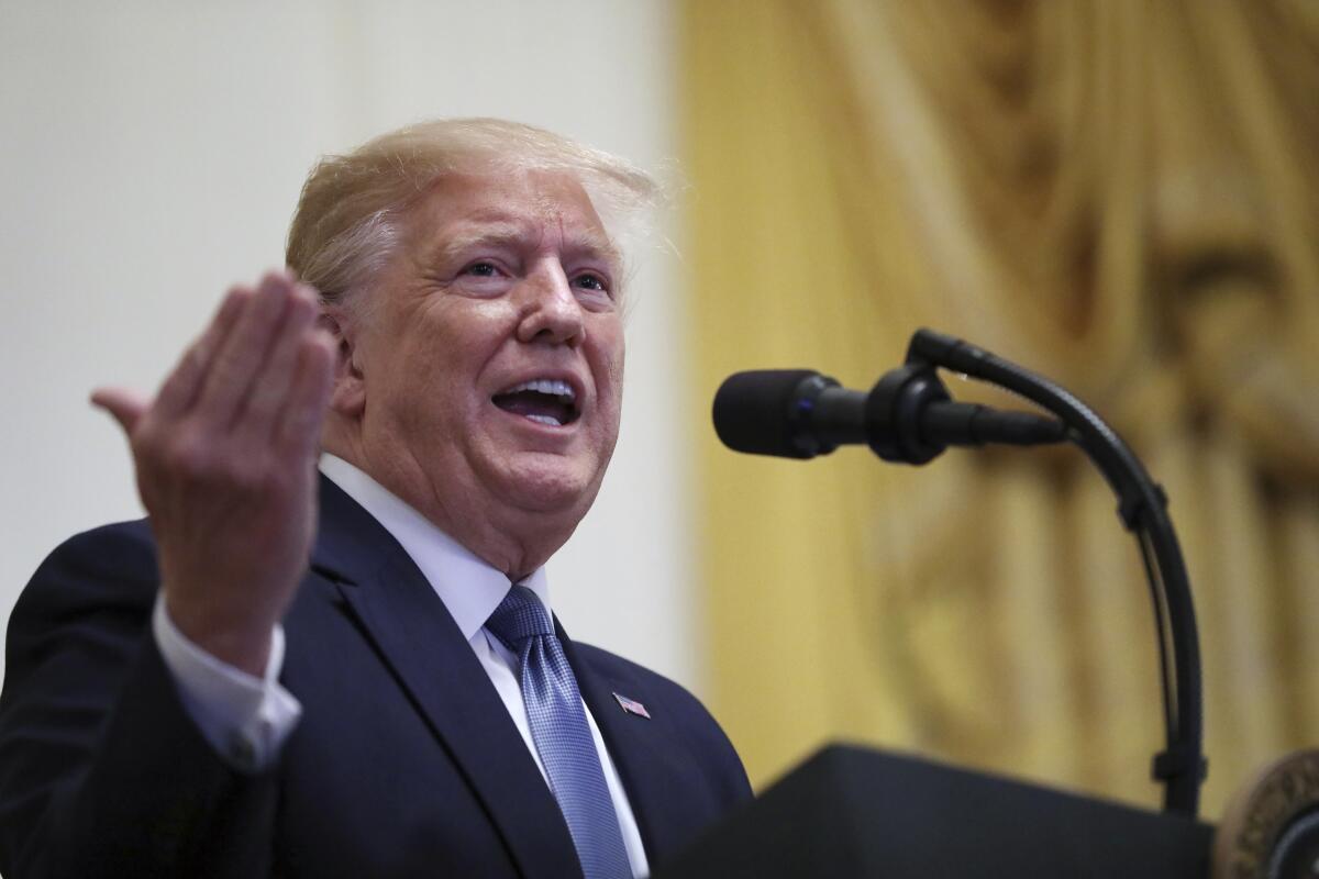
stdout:
POLYGON ((1204 879, 1213 828, 831 745, 654 879, 1204 879))

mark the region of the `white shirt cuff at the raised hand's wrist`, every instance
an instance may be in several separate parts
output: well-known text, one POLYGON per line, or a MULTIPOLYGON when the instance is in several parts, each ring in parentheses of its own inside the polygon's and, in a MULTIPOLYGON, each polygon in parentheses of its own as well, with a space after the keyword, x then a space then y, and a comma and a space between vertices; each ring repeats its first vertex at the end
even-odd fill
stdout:
POLYGON ((280 755, 302 717, 302 705, 280 684, 284 627, 270 633, 270 659, 256 677, 206 652, 178 630, 156 597, 152 634, 178 684, 183 708, 211 747, 233 768, 260 772, 280 755))

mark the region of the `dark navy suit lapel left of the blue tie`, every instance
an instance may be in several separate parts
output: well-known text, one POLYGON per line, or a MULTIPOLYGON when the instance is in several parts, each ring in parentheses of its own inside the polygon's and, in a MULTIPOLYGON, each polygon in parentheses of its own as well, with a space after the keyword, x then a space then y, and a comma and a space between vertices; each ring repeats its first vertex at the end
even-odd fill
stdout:
POLYGON ((484 803, 522 876, 580 876, 558 804, 485 669, 389 532, 322 477, 313 568, 330 577, 484 803))

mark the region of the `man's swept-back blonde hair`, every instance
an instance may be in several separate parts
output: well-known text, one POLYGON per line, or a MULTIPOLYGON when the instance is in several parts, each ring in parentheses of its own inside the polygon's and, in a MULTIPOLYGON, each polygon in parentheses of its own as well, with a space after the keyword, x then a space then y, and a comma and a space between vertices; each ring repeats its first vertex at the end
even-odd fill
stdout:
MULTIPOLYGON (((447 174, 566 171, 617 242, 662 198, 630 163, 533 125, 442 119, 408 125, 311 169, 289 225, 285 260, 326 303, 351 304, 401 240, 400 217, 447 174)), ((644 220, 641 220, 644 221, 644 220)))

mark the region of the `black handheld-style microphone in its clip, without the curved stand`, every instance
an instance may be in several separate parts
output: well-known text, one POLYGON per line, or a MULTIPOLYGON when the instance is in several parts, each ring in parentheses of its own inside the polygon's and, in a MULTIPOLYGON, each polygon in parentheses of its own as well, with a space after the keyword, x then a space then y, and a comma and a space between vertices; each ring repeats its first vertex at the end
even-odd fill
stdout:
POLYGON ((1054 418, 952 402, 925 364, 886 373, 869 393, 809 369, 735 373, 715 394, 714 416, 728 448, 795 459, 865 444, 886 461, 925 464, 948 445, 1039 445, 1068 438, 1054 418))

